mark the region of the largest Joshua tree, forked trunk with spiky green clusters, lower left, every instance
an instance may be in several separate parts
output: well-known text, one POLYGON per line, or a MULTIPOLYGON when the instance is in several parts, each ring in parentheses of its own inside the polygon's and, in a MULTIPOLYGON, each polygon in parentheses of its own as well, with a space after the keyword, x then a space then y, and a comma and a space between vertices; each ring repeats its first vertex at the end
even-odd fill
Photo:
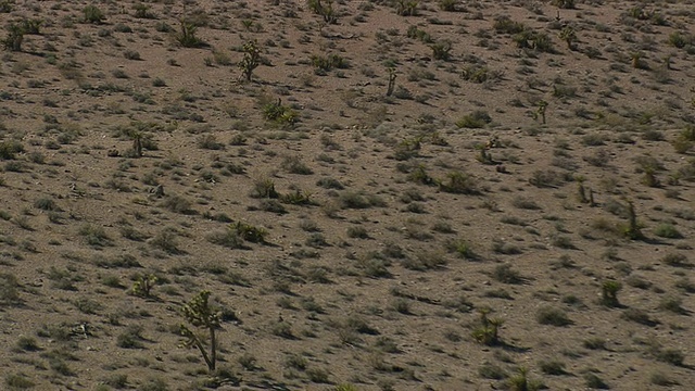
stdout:
POLYGON ((195 346, 203 355, 205 364, 210 373, 215 371, 217 363, 217 341, 216 330, 219 328, 219 312, 213 307, 210 302, 210 291, 203 290, 190 302, 181 307, 181 315, 188 324, 193 327, 204 328, 210 338, 210 353, 205 349, 204 340, 201 336, 191 330, 188 326, 181 324, 179 326, 180 333, 186 341, 184 345, 187 348, 195 346))

